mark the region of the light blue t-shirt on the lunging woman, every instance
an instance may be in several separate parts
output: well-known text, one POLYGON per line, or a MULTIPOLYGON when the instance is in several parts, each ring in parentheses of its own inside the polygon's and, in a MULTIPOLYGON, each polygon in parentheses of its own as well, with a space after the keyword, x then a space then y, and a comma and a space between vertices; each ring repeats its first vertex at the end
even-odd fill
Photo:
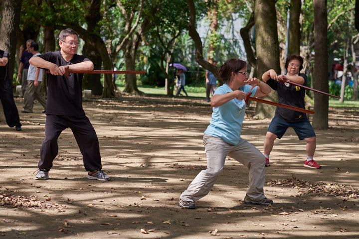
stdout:
MULTIPOLYGON (((250 88, 250 85, 244 85, 239 90, 247 94, 250 92, 250 88)), ((252 97, 256 91, 257 87, 251 90, 252 97)), ((224 84, 217 88, 214 95, 222 95, 230 92, 232 92, 232 89, 227 86, 227 84, 224 84)), ((229 144, 237 144, 240 140, 245 109, 246 104, 244 100, 239 101, 236 98, 219 107, 213 107, 212 119, 204 133, 220 137, 229 144)))

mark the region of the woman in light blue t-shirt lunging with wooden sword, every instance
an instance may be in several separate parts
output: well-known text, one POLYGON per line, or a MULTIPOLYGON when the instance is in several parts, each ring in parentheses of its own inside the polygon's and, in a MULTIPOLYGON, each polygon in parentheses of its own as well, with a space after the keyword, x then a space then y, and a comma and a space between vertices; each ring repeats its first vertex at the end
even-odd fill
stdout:
POLYGON ((266 96, 271 88, 257 78, 249 78, 246 62, 229 59, 219 68, 225 82, 217 88, 211 99, 212 119, 204 131, 203 143, 207 155, 207 169, 202 170, 179 198, 179 207, 194 209, 194 202, 204 197, 221 174, 226 156, 230 156, 249 169, 249 188, 244 198, 246 204, 269 205, 265 197, 264 155, 240 137, 246 103, 245 95, 266 96))

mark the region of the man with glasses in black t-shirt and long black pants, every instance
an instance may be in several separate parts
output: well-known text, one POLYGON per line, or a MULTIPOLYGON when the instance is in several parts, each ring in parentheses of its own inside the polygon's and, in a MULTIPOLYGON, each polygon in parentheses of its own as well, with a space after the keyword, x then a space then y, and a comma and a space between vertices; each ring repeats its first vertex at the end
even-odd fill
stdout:
POLYGON ((83 156, 88 179, 109 181, 101 169, 99 142, 90 120, 82 109, 83 74, 64 75, 69 70, 93 70, 93 63, 77 55, 77 33, 67 28, 59 34, 60 51, 46 52, 30 59, 30 64, 48 69, 45 139, 40 149, 39 171, 35 179, 47 180, 52 161, 58 153, 60 133, 71 128, 83 156))

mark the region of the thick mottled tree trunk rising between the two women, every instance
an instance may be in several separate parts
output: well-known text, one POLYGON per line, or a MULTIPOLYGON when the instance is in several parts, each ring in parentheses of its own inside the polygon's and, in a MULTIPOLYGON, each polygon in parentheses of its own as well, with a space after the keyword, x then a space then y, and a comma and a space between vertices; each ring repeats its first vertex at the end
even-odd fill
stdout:
MULTIPOLYGON (((254 22, 257 53, 257 76, 262 77, 269 69, 280 73, 279 42, 277 32, 276 0, 255 0, 254 22)), ((278 101, 278 95, 272 91, 264 99, 278 101)), ((272 118, 275 107, 257 103, 256 117, 272 118)))

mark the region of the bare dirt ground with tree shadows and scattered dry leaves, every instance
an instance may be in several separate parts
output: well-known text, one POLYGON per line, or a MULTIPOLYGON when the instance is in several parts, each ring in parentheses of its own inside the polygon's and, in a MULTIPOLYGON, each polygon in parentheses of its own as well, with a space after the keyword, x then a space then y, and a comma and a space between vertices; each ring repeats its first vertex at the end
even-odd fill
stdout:
MULTIPOLYGON (((22 99, 15 99, 19 112, 22 99)), ((228 158, 213 190, 195 210, 180 193, 206 167, 202 134, 211 117, 204 99, 121 96, 84 109, 97 132, 103 169, 88 180, 70 129, 60 135, 50 180, 34 180, 44 138, 41 106, 20 113, 22 131, 0 123, 0 239, 355 239, 359 238, 359 112, 330 109, 316 130, 315 159, 303 167, 305 142, 293 130, 276 140, 266 168, 273 206, 242 200, 248 170, 228 158)), ((242 137, 263 151, 269 119, 247 110, 242 137)))

